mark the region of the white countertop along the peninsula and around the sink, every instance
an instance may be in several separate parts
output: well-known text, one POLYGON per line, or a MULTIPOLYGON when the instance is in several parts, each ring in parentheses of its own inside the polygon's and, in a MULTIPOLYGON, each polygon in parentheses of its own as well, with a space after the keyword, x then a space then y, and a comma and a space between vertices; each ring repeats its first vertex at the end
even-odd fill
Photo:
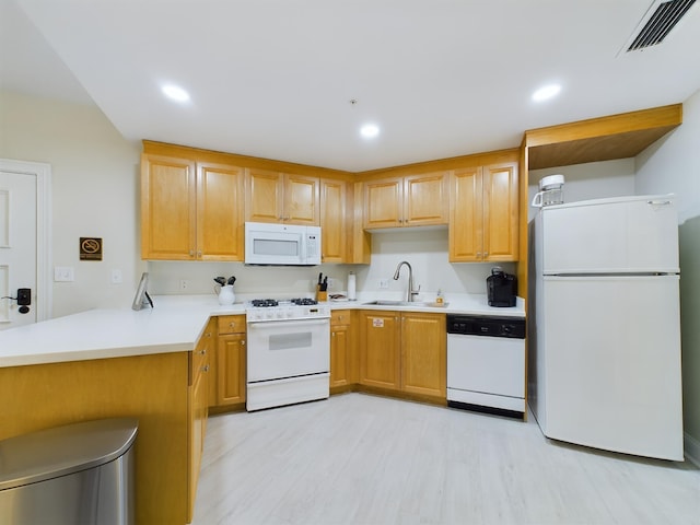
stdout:
MULTIPOLYGON (((494 308, 486 295, 447 296, 447 306, 376 306, 330 302, 334 310, 389 310, 524 317, 524 302, 494 308)), ((194 350, 212 315, 245 314, 242 303, 221 306, 215 295, 159 295, 154 308, 90 310, 0 331, 0 368, 194 350)))

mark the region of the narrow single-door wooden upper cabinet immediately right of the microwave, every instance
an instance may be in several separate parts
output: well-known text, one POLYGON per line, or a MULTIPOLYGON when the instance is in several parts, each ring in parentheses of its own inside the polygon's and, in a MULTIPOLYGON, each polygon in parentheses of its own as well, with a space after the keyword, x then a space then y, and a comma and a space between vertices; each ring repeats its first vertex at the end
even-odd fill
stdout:
POLYGON ((322 262, 347 262, 347 183, 320 179, 322 262))

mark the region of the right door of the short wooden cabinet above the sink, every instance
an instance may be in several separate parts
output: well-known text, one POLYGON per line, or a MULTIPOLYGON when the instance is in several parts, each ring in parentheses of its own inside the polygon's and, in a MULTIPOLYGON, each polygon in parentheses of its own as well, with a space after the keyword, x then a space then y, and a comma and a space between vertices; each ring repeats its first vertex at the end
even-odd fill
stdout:
POLYGON ((445 173, 425 173, 404 178, 404 226, 447 224, 448 199, 445 173))

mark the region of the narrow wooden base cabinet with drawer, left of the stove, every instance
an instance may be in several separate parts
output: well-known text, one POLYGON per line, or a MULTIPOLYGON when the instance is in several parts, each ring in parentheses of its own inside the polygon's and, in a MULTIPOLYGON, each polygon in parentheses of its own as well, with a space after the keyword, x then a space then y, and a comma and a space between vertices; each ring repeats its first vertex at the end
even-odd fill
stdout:
POLYGON ((245 402, 246 395, 246 324, 245 315, 222 315, 218 318, 214 388, 210 405, 225 407, 245 402))

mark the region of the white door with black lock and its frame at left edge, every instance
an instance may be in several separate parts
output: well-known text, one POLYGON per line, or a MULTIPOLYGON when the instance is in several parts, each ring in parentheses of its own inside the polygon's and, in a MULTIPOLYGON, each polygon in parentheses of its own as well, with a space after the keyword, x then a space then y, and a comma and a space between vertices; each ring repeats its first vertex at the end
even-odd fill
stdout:
POLYGON ((46 164, 0 160, 0 330, 48 318, 46 164), (30 304, 20 305, 19 290, 30 304))

